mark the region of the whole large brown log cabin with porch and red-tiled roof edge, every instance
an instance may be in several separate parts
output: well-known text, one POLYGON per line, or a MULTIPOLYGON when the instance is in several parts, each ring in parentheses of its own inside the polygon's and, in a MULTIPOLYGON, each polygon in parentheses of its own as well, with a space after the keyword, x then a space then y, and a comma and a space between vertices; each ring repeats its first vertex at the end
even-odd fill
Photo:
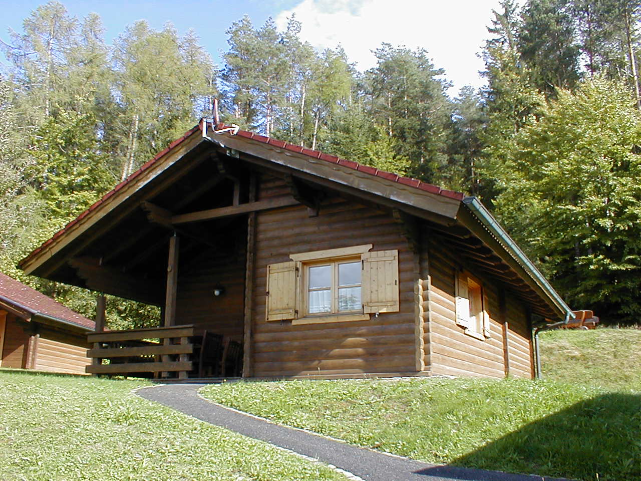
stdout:
POLYGON ((162 308, 88 373, 203 376, 207 332, 244 377, 531 378, 533 319, 573 317, 478 199, 207 119, 21 267, 162 308))

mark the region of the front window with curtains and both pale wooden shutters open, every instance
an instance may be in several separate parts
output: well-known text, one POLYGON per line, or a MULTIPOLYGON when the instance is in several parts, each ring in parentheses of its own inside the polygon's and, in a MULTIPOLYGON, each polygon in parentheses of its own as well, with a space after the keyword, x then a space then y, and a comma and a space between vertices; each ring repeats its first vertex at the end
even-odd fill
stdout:
POLYGON ((292 254, 293 262, 268 266, 267 321, 355 321, 398 311, 398 251, 371 248, 292 254))

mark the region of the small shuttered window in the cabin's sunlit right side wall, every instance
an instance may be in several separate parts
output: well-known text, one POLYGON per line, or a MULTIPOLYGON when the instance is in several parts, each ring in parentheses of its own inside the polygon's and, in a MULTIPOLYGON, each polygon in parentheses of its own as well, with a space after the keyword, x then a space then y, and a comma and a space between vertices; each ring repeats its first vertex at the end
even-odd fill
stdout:
POLYGON ((481 282, 465 271, 456 276, 456 323, 478 339, 490 337, 490 317, 481 282))

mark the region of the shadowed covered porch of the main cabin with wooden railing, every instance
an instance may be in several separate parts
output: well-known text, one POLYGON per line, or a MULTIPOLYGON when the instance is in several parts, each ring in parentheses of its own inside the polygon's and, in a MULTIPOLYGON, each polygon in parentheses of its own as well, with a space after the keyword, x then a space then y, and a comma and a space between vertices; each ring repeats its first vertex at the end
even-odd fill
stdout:
POLYGON ((160 307, 144 323, 153 327, 105 330, 98 296, 87 373, 248 375, 255 213, 283 202, 256 201, 260 173, 198 134, 144 165, 66 226, 62 241, 26 259, 38 276, 160 307))

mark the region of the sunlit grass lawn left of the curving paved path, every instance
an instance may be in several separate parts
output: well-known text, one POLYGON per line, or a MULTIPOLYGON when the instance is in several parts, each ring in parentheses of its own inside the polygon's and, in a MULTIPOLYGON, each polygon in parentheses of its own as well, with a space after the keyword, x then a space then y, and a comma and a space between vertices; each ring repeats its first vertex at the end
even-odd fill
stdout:
POLYGON ((346 479, 133 394, 145 385, 0 371, 0 479, 346 479))

